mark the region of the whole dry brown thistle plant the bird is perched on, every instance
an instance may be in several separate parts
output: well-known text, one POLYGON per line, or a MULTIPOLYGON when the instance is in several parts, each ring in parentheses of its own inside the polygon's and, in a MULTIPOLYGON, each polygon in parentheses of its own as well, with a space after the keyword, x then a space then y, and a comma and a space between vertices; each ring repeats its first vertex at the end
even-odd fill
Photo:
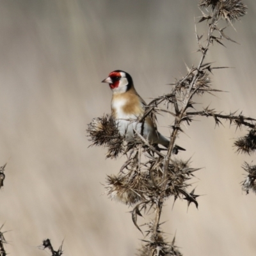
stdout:
MULTIPOLYGON (((195 188, 189 189, 189 180, 199 168, 191 167, 190 159, 182 160, 173 151, 184 124, 191 124, 196 116, 212 118, 216 126, 228 121, 237 129, 247 129, 246 135, 234 141, 237 152, 252 154, 256 150, 256 119, 236 111, 225 114, 209 107, 199 108, 195 102, 196 95, 223 92, 212 87, 211 76, 215 69, 224 67, 212 67, 212 63, 205 59, 214 43, 224 45, 225 40, 235 42, 224 33, 227 27, 220 28, 221 20, 233 26, 234 21, 246 14, 246 5, 241 0, 199 0, 198 6, 202 12, 198 23, 204 22, 208 29, 205 35, 198 35, 196 29, 197 51, 200 52, 198 64, 188 67, 187 74, 171 83, 169 93, 153 99, 145 107, 145 114, 136 121, 141 122, 143 127, 148 115, 173 116, 168 149, 150 145, 143 138, 143 131, 134 130, 134 140, 125 141, 111 115, 94 118, 88 125, 92 145, 106 147, 107 157, 126 157, 120 171, 107 177, 106 190, 110 198, 132 207, 132 221, 144 236, 142 248, 138 250, 140 256, 182 255, 175 246, 175 237, 172 243, 164 238, 160 219, 164 202, 170 197, 174 200, 185 199, 188 205, 198 207, 198 195, 195 188), (137 219, 147 214, 153 214, 153 218, 143 225, 142 230, 137 219)), ((256 165, 244 163, 243 168, 248 173, 242 182, 243 190, 256 193, 256 165)))

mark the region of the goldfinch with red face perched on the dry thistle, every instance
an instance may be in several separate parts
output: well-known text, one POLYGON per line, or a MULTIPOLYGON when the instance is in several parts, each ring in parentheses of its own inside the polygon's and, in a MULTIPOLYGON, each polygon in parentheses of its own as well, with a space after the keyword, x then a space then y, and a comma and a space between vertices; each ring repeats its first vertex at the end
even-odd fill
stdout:
MULTIPOLYGON (((127 72, 112 71, 106 79, 102 80, 102 83, 108 83, 113 92, 111 115, 115 117, 118 131, 120 135, 125 136, 125 140, 131 141, 134 138, 135 130, 140 134, 142 133, 143 138, 150 144, 169 147, 170 141, 157 131, 156 118, 153 113, 145 117, 144 123, 139 122, 145 113, 147 104, 136 92, 132 77, 127 72), (141 129, 143 129, 142 132, 141 129)), ((179 150, 185 149, 178 145, 173 147, 174 154, 177 154, 179 150)))

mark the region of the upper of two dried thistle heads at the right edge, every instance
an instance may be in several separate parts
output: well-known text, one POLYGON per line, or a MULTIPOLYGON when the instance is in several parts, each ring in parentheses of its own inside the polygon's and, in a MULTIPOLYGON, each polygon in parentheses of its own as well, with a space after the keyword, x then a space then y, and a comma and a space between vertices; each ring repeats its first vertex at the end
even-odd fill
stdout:
POLYGON ((246 136, 238 138, 234 146, 237 152, 247 153, 248 155, 256 151, 256 129, 251 129, 246 136))

